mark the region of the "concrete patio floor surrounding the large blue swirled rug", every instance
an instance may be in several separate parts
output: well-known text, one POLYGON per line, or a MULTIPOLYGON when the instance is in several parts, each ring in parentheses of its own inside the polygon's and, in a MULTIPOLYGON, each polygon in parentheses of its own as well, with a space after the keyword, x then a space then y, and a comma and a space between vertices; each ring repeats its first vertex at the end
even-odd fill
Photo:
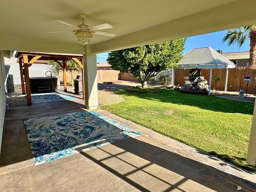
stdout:
POLYGON ((95 111, 142 136, 34 166, 22 119, 82 110, 84 100, 10 105, 0 155, 0 191, 232 192, 237 186, 256 191, 255 174, 101 109, 95 111))

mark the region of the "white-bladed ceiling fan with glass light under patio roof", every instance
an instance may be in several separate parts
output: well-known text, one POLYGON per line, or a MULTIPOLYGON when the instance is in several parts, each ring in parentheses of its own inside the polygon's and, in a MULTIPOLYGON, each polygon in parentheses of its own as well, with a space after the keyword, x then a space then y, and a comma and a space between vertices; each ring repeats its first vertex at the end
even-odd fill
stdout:
POLYGON ((88 44, 90 42, 90 38, 93 37, 93 34, 104 35, 104 36, 109 36, 109 37, 114 37, 116 35, 114 33, 98 31, 98 30, 102 30, 102 29, 113 28, 108 23, 104 23, 104 24, 100 24, 100 25, 94 25, 94 26, 88 26, 88 25, 84 24, 84 20, 87 18, 86 14, 79 14, 78 17, 80 19, 82 19, 82 24, 80 24, 78 26, 74 26, 74 25, 69 24, 69 23, 64 22, 64 21, 55 20, 55 21, 60 22, 62 24, 74 27, 75 28, 74 30, 50 31, 48 33, 66 32, 66 31, 74 32, 74 36, 76 36, 79 43, 81 43, 83 45, 88 44))

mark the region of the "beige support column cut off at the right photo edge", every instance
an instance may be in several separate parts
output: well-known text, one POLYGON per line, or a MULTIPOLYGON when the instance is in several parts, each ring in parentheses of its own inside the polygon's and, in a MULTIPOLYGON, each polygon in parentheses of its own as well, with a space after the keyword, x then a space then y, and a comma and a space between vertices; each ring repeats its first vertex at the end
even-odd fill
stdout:
POLYGON ((251 128, 246 162, 252 166, 256 165, 256 102, 254 102, 252 128, 251 128))

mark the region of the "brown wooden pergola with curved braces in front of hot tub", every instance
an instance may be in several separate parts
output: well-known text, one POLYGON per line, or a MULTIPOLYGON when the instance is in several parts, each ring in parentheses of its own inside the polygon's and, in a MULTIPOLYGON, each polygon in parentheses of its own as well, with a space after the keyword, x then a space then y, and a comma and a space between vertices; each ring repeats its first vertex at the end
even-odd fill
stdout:
MULTIPOLYGON (((31 105, 31 90, 30 90, 30 80, 28 68, 34 64, 36 60, 54 60, 60 65, 63 70, 63 82, 64 82, 64 91, 67 91, 67 82, 66 82, 66 63, 68 60, 76 61, 79 66, 83 68, 83 55, 81 54, 58 54, 58 53, 44 53, 44 52, 23 52, 18 51, 16 53, 16 58, 19 60, 20 65, 20 78, 21 78, 21 87, 22 94, 27 95, 27 104, 31 105), (25 84, 24 84, 25 83, 25 84), (26 86, 26 92, 25 92, 26 86)), ((83 79, 83 98, 85 97, 85 88, 84 88, 84 72, 82 71, 83 79)))

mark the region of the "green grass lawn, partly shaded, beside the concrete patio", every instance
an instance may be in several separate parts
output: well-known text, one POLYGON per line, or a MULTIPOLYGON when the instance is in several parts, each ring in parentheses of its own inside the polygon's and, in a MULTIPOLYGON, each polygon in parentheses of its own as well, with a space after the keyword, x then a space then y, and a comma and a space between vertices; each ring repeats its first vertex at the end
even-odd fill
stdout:
POLYGON ((254 103, 172 90, 116 93, 125 101, 102 109, 256 172, 246 164, 254 103))

